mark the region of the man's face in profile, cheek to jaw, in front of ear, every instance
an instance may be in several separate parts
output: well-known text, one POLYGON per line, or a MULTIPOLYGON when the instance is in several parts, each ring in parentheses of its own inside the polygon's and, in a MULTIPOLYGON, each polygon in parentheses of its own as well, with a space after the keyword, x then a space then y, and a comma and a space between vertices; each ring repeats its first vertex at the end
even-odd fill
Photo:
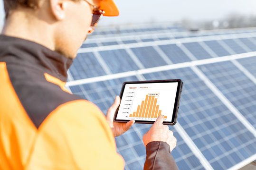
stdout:
MULTIPOLYGON (((96 7, 99 6, 99 0, 87 1, 96 7)), ((85 0, 68 0, 67 5, 65 19, 60 21, 56 30, 56 51, 74 59, 88 32, 94 30, 91 27, 93 9, 85 0)))

